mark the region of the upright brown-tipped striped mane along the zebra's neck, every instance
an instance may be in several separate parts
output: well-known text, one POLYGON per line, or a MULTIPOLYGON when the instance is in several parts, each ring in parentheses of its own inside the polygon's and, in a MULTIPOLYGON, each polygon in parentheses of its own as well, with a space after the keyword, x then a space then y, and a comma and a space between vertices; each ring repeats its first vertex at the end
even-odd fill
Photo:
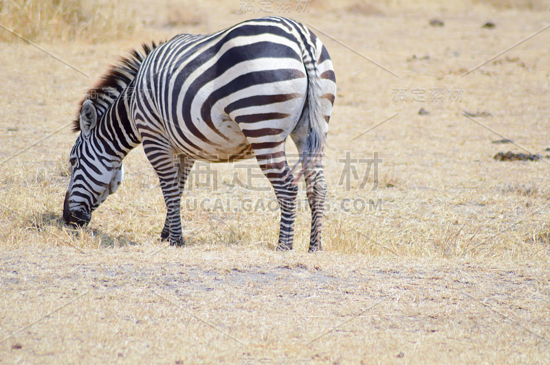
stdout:
POLYGON ((80 110, 84 102, 86 100, 94 102, 98 111, 98 119, 100 119, 118 95, 133 81, 146 56, 162 43, 164 42, 151 42, 150 45, 143 43, 141 49, 132 49, 128 56, 121 57, 117 63, 109 67, 99 82, 89 89, 80 101, 78 114, 73 121, 73 132, 80 132, 80 110))

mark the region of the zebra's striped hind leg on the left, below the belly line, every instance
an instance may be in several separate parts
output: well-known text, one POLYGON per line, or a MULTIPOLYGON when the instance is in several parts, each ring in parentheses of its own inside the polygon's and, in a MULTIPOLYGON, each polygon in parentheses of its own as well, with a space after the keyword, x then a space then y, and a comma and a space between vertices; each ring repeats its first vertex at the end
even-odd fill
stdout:
MULTIPOLYGON (((254 148, 254 144, 252 144, 252 148, 254 148)), ((281 208, 281 226, 279 228, 277 250, 292 250, 298 185, 293 184, 294 177, 290 172, 285 152, 257 154, 256 159, 263 174, 270 180, 281 208)))

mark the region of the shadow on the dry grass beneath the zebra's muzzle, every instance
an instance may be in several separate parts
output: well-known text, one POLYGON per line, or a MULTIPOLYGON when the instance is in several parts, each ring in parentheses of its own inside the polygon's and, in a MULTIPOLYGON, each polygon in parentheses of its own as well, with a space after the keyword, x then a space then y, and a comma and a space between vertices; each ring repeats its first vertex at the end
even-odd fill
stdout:
POLYGON ((50 231, 52 228, 58 229, 72 236, 75 240, 80 240, 83 233, 88 235, 90 243, 94 243, 97 248, 119 248, 125 246, 136 246, 137 242, 132 241, 125 235, 113 236, 105 233, 97 228, 72 228, 63 222, 63 218, 59 213, 54 211, 46 211, 36 213, 28 219, 30 226, 36 229, 37 232, 50 231))

